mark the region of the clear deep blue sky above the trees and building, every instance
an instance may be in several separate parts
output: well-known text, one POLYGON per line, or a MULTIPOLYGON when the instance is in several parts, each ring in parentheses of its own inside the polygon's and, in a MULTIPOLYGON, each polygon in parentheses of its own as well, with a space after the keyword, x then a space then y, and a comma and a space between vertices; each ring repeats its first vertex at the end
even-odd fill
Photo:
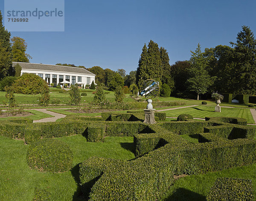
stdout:
MULTIPOLYGON (((0 1, 3 12, 4 2, 0 1)), ((65 0, 65 32, 11 32, 26 40, 31 63, 73 63, 136 70, 144 43, 169 52, 170 64, 190 50, 236 41, 241 26, 256 34, 255 0, 65 0)))

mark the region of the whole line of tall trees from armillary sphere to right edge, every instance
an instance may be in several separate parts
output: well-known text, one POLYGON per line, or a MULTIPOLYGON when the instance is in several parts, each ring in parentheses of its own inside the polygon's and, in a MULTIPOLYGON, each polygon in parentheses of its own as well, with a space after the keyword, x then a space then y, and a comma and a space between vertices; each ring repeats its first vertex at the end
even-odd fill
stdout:
POLYGON ((144 45, 137 68, 136 83, 154 79, 166 85, 172 96, 194 98, 205 93, 256 94, 256 40, 250 27, 242 26, 236 43, 218 45, 201 51, 198 44, 190 60, 169 65, 163 47, 150 41, 144 45))

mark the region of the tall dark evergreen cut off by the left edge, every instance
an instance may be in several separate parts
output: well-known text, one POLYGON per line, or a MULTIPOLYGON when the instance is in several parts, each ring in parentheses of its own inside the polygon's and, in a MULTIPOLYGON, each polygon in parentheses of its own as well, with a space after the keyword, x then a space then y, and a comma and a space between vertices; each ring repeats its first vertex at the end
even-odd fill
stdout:
POLYGON ((0 75, 2 77, 13 74, 10 36, 11 33, 3 26, 3 16, 0 11, 0 75))

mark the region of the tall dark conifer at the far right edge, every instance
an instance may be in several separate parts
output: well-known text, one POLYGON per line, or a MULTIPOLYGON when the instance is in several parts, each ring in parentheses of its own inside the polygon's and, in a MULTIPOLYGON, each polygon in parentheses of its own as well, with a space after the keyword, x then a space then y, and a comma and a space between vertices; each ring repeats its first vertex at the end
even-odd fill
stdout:
POLYGON ((242 26, 237 34, 235 46, 233 71, 234 92, 253 95, 256 94, 256 40, 248 26, 242 26))

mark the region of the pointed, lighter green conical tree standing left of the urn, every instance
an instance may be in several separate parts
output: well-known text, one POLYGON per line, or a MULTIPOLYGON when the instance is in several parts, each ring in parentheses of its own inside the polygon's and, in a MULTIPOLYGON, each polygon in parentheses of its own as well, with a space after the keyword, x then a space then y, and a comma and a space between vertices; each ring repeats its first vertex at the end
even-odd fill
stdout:
POLYGON ((191 66, 189 69, 189 79, 187 80, 187 86, 190 91, 196 92, 197 100, 199 100, 200 94, 205 94, 207 88, 212 85, 213 78, 211 78, 206 70, 207 60, 201 52, 201 46, 198 43, 198 47, 195 52, 192 52, 190 58, 191 66))

